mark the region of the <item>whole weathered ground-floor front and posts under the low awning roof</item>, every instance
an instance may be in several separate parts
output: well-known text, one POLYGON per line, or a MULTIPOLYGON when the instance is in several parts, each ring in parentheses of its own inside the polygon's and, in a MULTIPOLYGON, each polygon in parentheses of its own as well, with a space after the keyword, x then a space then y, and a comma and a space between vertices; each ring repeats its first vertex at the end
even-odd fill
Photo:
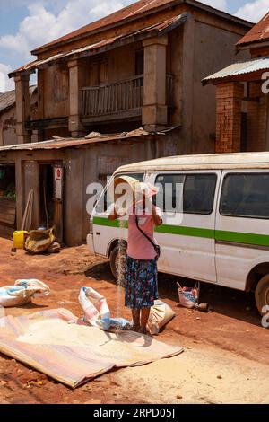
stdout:
MULTIPOLYGON (((160 142, 162 145, 162 139, 160 142)), ((159 154, 157 144, 152 137, 146 137, 88 145, 79 149, 6 151, 0 157, 0 163, 15 163, 17 227, 21 227, 30 189, 34 190, 33 226, 41 223, 39 163, 63 163, 64 242, 68 246, 85 242, 89 233, 86 203, 90 195, 86 193, 87 186, 96 181, 105 184, 106 177, 119 165, 155 158, 159 154)))

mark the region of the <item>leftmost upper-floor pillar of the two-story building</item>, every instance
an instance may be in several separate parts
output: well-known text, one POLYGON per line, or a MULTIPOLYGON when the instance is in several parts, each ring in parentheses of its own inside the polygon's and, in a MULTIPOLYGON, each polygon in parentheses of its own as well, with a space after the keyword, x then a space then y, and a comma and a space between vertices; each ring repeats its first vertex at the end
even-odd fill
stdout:
POLYGON ((30 142, 30 132, 25 128, 26 120, 30 119, 29 75, 15 76, 16 92, 16 135, 18 144, 30 142))

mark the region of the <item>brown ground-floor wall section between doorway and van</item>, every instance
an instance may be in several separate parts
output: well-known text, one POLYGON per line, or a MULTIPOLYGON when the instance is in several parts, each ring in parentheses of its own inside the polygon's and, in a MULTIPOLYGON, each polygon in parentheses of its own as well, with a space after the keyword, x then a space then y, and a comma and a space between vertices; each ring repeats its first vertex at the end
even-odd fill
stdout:
POLYGON ((65 227, 68 225, 68 233, 65 233, 66 242, 80 244, 85 242, 89 233, 90 217, 86 203, 91 195, 87 194, 86 190, 90 183, 100 182, 104 185, 107 176, 120 165, 150 160, 157 154, 156 143, 149 138, 144 141, 96 144, 91 148, 72 150, 68 163, 65 163, 65 227), (78 206, 74 207, 74 204, 78 206))

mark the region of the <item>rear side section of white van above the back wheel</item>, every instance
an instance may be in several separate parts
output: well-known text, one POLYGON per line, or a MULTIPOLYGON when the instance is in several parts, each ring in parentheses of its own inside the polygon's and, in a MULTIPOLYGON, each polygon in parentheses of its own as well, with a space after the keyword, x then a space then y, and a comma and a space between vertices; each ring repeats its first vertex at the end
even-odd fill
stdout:
POLYGON ((269 171, 223 171, 219 197, 218 283, 245 290, 250 270, 269 261, 269 171))

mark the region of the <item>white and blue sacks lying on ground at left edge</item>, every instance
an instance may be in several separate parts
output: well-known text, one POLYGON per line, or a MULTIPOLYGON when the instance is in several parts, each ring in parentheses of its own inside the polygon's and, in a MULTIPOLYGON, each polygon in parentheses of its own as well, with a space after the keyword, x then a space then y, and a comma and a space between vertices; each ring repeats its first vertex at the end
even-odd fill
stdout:
POLYGON ((49 287, 35 278, 16 280, 14 286, 0 287, 0 306, 22 306, 29 303, 32 297, 49 294, 49 287))

